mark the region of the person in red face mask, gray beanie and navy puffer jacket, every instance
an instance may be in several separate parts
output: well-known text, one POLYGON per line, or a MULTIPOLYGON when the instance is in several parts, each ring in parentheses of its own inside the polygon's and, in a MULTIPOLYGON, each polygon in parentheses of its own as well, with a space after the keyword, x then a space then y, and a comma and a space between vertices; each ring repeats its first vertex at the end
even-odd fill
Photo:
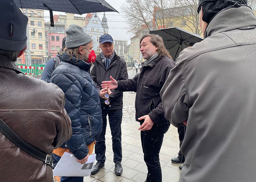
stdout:
MULTIPOLYGON (((66 96, 65 109, 72 122, 73 135, 70 140, 53 151, 59 161, 64 152, 71 152, 77 161, 84 164, 92 154, 95 137, 102 129, 100 98, 110 90, 97 91, 90 76, 96 55, 92 50, 92 38, 78 25, 66 30, 67 50, 61 63, 53 71, 50 82, 58 85, 66 96)), ((61 177, 61 182, 83 181, 83 177, 61 177)))

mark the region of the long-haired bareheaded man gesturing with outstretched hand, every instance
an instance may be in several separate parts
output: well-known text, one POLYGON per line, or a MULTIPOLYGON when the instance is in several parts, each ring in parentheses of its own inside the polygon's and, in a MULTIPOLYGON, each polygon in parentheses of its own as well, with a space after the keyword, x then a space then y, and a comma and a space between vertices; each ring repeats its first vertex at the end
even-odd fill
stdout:
POLYGON ((146 181, 161 182, 159 152, 170 122, 164 118, 159 92, 174 62, 164 47, 163 39, 158 35, 143 35, 140 39, 140 52, 146 61, 139 74, 132 79, 119 81, 110 77, 111 81, 104 81, 101 86, 107 88, 105 84, 108 84, 109 89, 136 92, 136 120, 140 122, 142 150, 148 167, 146 181))

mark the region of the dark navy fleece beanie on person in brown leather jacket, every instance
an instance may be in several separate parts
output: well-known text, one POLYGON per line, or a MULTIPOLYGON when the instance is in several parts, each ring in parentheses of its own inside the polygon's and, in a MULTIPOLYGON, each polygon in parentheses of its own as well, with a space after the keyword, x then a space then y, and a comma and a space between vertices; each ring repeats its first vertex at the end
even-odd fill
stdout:
POLYGON ((27 45, 28 17, 13 0, 0 0, 0 49, 21 51, 27 45))

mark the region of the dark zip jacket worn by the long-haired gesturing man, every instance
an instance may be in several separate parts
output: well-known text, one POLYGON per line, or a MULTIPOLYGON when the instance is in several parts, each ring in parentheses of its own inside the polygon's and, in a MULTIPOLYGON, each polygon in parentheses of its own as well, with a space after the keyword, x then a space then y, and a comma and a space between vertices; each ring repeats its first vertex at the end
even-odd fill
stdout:
POLYGON ((154 123, 170 124, 164 118, 164 110, 160 91, 166 81, 170 70, 175 63, 164 56, 158 57, 147 66, 142 66, 139 74, 132 79, 118 82, 118 91, 137 92, 135 99, 136 120, 144 115, 149 115, 154 123))

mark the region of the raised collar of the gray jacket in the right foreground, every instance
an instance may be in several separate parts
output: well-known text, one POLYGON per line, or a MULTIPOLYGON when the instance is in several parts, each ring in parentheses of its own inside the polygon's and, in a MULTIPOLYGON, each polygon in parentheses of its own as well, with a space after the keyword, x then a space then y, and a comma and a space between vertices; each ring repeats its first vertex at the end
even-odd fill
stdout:
POLYGON ((256 18, 249 6, 242 5, 239 8, 229 6, 217 13, 208 23, 204 39, 216 33, 235 29, 253 29, 255 25, 256 18))

